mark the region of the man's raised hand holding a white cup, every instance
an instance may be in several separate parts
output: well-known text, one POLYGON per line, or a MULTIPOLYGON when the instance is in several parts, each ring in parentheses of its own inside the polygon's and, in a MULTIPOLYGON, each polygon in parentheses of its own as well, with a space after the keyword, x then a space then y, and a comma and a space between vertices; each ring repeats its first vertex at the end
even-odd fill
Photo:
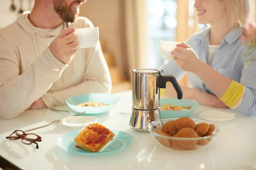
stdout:
POLYGON ((75 28, 65 28, 49 45, 52 54, 64 64, 69 64, 72 61, 79 47, 75 30, 75 28))

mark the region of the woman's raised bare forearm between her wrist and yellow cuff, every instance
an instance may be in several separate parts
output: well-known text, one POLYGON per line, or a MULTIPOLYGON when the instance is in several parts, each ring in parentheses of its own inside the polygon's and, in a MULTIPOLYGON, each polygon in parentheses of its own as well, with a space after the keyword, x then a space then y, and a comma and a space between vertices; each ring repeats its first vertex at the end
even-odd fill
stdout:
POLYGON ((207 85, 211 91, 221 98, 230 86, 232 79, 223 76, 204 62, 198 65, 195 74, 207 85))

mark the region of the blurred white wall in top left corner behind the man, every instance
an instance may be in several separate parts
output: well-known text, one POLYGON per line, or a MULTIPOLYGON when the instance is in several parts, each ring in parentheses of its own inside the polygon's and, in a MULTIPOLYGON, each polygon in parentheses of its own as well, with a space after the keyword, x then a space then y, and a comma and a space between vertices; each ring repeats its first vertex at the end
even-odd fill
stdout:
MULTIPOLYGON (((0 28, 13 23, 20 10, 20 0, 15 0, 16 11, 10 11, 12 0, 0 0, 0 28)), ((22 0, 22 10, 26 11, 32 8, 34 0, 22 0), (29 6, 29 2, 31 3, 29 6)))

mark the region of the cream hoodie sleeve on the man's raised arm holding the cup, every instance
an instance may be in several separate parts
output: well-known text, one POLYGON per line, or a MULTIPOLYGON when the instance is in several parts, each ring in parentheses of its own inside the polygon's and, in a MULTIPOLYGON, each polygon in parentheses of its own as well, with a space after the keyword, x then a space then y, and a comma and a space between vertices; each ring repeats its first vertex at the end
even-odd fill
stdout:
POLYGON ((11 119, 43 96, 67 65, 56 59, 49 47, 20 74, 15 45, 0 35, 0 116, 11 119))

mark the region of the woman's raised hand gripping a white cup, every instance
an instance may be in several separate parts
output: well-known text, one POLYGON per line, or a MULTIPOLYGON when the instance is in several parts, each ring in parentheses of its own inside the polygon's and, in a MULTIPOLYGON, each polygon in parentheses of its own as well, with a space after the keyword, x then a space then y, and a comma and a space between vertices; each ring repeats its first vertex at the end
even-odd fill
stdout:
POLYGON ((174 56, 173 60, 178 67, 184 71, 195 73, 200 69, 198 65, 203 63, 195 54, 195 51, 185 42, 178 44, 171 54, 174 56))

